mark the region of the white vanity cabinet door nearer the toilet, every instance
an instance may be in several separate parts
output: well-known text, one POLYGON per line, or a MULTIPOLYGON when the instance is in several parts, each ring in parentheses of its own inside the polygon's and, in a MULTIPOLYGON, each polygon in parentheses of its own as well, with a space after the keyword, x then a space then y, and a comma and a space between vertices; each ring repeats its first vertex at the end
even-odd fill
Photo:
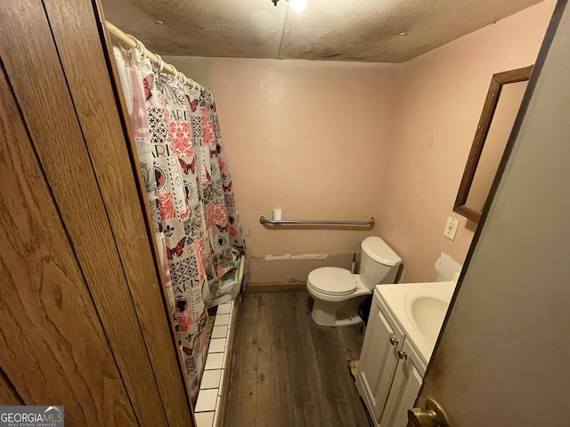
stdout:
POLYGON ((376 422, 384 410, 398 363, 397 351, 402 349, 404 339, 392 318, 382 313, 380 305, 375 295, 356 380, 356 387, 376 422))

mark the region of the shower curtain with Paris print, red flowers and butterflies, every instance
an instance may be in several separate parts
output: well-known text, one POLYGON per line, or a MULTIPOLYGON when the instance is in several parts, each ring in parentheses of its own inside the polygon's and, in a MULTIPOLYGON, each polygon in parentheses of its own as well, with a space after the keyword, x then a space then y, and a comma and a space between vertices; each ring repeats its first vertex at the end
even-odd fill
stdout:
POLYGON ((161 74, 137 49, 115 46, 114 54, 195 402, 206 359, 206 302, 244 250, 216 102, 210 91, 161 74))

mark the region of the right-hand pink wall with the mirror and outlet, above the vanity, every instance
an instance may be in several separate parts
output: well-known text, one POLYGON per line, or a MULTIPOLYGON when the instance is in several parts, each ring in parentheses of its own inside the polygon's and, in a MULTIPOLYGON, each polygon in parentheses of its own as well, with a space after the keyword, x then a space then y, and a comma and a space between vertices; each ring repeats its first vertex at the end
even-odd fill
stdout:
POLYGON ((533 64, 555 2, 523 12, 402 64, 395 129, 379 198, 379 233, 406 262, 404 281, 435 279, 444 251, 462 263, 476 224, 452 212, 494 73, 533 64), (454 241, 447 217, 460 219, 454 241))

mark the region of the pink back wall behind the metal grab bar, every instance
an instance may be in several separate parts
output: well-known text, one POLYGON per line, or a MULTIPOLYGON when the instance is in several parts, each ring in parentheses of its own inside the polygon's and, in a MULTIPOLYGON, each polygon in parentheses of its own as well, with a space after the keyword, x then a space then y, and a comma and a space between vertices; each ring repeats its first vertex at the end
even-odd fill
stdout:
POLYGON ((309 60, 215 59, 214 87, 252 282, 304 281, 315 266, 348 267, 371 230, 274 230, 289 220, 367 220, 394 123, 399 66, 309 60), (329 254, 322 262, 265 254, 329 254))

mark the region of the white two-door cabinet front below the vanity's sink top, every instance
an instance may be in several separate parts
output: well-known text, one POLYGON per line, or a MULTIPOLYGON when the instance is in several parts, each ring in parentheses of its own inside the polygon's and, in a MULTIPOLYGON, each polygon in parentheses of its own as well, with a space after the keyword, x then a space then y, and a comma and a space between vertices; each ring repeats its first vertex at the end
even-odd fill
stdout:
POLYGON ((426 367, 377 292, 364 335, 356 388, 377 427, 405 427, 426 367))

